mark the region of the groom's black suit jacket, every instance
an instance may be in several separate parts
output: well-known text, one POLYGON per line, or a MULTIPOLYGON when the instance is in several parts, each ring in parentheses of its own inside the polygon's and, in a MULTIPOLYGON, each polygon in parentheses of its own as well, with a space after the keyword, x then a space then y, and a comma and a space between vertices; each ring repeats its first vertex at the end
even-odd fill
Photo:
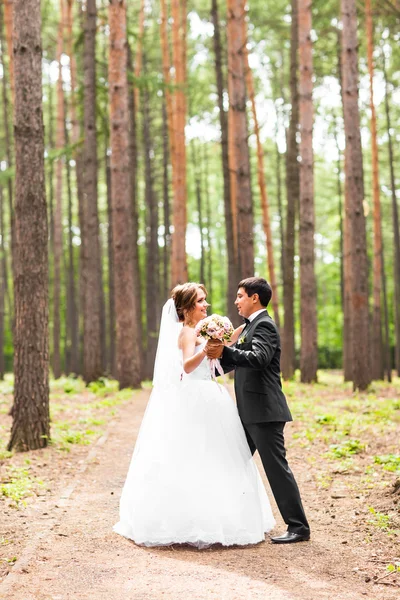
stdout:
POLYGON ((279 331, 267 311, 249 323, 234 346, 223 350, 225 372, 235 370, 235 392, 244 424, 292 421, 281 383, 279 331))

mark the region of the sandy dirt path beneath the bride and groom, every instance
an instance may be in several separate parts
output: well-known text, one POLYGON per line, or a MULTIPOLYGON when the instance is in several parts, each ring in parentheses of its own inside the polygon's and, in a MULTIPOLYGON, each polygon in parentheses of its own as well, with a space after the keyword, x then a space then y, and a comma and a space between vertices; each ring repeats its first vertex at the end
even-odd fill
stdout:
MULTIPOLYGON (((148 398, 122 406, 71 476, 62 497, 31 510, 32 537, 0 585, 4 600, 394 600, 398 590, 366 582, 360 565, 376 549, 353 544, 352 523, 335 519, 304 457, 289 458, 312 526, 309 543, 144 549, 112 532, 134 440, 148 398)), ((288 428, 290 430, 290 427, 288 428)), ((289 435, 290 437, 290 435, 289 435)), ((296 452, 297 454, 297 452, 296 452)), ((275 504, 277 531, 282 531, 275 504)), ((339 518, 338 518, 339 517, 339 518)))

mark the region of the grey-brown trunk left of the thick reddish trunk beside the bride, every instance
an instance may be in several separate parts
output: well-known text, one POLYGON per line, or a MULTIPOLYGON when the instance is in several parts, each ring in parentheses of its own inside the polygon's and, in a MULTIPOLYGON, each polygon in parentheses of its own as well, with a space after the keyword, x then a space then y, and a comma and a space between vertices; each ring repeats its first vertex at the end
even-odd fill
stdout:
POLYGON ((101 264, 97 208, 96 0, 87 0, 83 51, 83 377, 88 383, 103 373, 101 354, 101 264))

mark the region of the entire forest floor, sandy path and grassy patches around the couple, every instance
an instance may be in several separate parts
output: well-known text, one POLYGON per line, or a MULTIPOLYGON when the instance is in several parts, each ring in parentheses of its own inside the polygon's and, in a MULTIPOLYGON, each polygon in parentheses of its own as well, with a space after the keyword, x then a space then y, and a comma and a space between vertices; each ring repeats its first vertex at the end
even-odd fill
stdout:
POLYGON ((288 458, 311 541, 282 546, 267 536, 202 551, 141 548, 112 532, 149 387, 60 379, 51 388, 52 444, 10 454, 12 379, 0 384, 0 598, 400 597, 400 379, 366 394, 352 394, 338 372, 321 372, 313 386, 286 384, 295 417, 288 458))

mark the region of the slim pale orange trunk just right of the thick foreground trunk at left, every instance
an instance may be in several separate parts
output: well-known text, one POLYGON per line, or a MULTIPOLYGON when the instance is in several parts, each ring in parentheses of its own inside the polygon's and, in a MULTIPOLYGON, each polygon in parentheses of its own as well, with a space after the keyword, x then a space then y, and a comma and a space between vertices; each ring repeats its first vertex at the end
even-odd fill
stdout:
MULTIPOLYGON (((57 81, 57 118, 56 118, 56 148, 62 150, 65 146, 64 136, 64 90, 62 80, 61 55, 64 50, 64 11, 63 0, 60 0, 60 23, 57 38, 56 60, 58 62, 57 81)), ((53 374, 56 379, 61 376, 61 260, 63 254, 62 227, 62 195, 63 195, 63 158, 60 156, 56 163, 56 206, 54 211, 54 280, 53 280, 53 374)))

